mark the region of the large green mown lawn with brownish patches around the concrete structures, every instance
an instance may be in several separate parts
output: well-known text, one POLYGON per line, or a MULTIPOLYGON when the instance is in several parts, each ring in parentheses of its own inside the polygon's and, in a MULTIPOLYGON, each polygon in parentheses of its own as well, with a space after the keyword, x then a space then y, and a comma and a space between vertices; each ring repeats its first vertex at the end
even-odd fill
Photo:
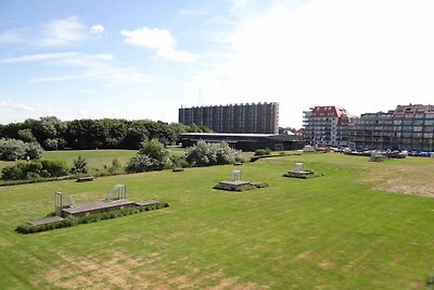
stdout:
POLYGON ((434 199, 426 197, 433 171, 430 159, 370 163, 305 154, 241 167, 0 187, 0 288, 423 289, 434 269, 434 199), (282 177, 296 162, 326 176, 282 177), (234 168, 270 187, 212 189, 234 168), (53 211, 56 190, 80 202, 104 198, 118 182, 131 200, 159 199, 170 207, 14 232, 53 211))

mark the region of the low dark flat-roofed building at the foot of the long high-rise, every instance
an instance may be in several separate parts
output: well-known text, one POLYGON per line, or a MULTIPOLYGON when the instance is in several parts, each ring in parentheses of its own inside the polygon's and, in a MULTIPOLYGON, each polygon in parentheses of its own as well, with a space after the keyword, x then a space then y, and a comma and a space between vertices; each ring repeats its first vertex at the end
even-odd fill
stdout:
POLYGON ((265 148, 273 151, 299 150, 306 143, 298 136, 289 134, 183 133, 180 140, 183 148, 203 140, 207 143, 227 142, 230 147, 243 151, 265 148))

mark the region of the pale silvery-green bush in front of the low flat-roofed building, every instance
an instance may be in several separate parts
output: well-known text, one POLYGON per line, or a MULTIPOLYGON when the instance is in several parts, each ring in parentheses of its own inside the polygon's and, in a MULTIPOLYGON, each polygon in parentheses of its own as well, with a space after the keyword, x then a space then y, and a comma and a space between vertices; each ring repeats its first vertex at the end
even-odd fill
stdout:
POLYGON ((234 150, 228 143, 197 143, 186 152, 186 160, 192 166, 208 166, 244 162, 241 151, 234 150))

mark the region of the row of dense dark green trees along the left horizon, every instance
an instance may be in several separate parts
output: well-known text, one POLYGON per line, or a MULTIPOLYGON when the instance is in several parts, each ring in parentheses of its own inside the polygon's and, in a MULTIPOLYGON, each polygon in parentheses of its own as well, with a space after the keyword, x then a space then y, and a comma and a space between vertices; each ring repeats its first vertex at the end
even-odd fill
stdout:
POLYGON ((117 118, 74 119, 64 122, 55 116, 26 119, 0 125, 0 138, 38 142, 44 150, 58 149, 139 149, 145 140, 157 139, 163 144, 178 141, 186 131, 210 131, 195 124, 126 121, 117 118))

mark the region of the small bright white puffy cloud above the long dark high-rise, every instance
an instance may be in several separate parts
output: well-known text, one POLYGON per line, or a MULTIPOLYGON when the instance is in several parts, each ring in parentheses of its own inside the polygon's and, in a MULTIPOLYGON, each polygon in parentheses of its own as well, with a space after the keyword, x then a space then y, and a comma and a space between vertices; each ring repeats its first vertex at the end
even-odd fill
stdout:
POLYGON ((191 52, 175 49, 175 38, 166 29, 143 27, 122 30, 120 34, 126 36, 125 43, 155 49, 159 59, 183 63, 194 63, 197 60, 191 52))

